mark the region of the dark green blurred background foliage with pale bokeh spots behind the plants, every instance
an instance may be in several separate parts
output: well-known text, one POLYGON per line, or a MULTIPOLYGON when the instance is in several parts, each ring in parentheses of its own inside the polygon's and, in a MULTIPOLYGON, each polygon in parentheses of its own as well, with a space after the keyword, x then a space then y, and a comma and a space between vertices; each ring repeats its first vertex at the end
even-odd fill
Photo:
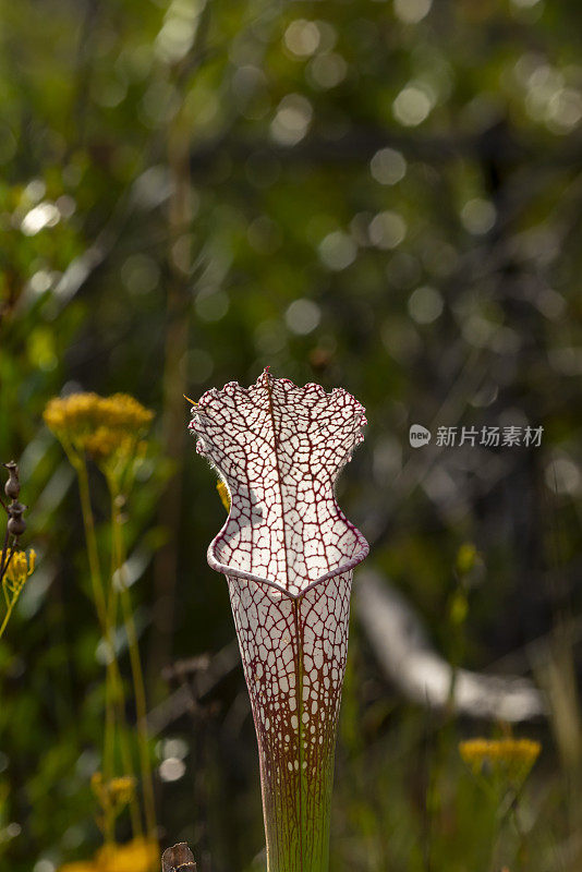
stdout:
MULTIPOLYGON (((580 870, 580 4, 0 9, 0 459, 21 463, 40 557, 0 643, 2 868, 54 872, 99 844, 99 631, 73 473, 41 423, 74 390, 156 412, 128 529, 162 840, 189 840, 202 872, 262 868, 253 725, 205 557, 225 510, 182 395, 270 365, 345 387, 369 421, 338 492, 372 554, 331 869, 486 872, 457 741, 514 722, 544 747, 532 845, 523 859, 508 835, 495 868, 580 870), (543 434, 459 446, 463 426, 543 434), (391 667, 373 594, 404 616, 391 667), (429 669, 414 683, 419 644, 471 670, 477 702, 433 698, 429 669)), ((94 495, 105 518, 97 475, 94 495)))

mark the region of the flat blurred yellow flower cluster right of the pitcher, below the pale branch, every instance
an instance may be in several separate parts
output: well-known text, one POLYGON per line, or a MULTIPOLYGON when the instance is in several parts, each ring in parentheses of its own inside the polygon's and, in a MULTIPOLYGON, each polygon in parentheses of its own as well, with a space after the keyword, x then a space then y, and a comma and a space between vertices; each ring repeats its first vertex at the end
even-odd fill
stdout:
POLYGON ((537 760, 542 746, 533 739, 470 739, 459 752, 475 774, 487 768, 511 779, 523 779, 537 760))

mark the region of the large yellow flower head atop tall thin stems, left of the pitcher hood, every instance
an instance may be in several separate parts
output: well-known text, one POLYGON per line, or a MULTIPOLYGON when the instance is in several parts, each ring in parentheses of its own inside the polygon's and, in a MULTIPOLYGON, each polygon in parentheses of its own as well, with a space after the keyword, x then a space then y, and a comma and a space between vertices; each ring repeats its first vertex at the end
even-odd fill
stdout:
POLYGON ((128 393, 99 397, 72 393, 47 403, 44 419, 66 447, 98 463, 129 460, 154 417, 154 412, 128 393))

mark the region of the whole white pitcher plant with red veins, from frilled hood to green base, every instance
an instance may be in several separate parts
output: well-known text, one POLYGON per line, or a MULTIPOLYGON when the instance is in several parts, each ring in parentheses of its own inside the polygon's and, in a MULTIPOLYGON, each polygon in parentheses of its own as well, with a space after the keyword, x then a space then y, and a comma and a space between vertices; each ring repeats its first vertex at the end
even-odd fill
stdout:
POLYGON ((268 872, 325 872, 353 568, 367 554, 335 495, 362 440, 342 389, 268 370, 193 409, 197 450, 230 495, 208 562, 228 581, 255 720, 268 872))

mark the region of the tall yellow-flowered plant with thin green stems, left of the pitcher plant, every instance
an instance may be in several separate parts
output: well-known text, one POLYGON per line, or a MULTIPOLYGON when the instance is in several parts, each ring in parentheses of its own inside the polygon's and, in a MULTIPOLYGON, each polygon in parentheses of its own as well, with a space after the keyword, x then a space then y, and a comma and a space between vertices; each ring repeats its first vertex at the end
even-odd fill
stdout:
MULTIPOLYGON (((129 493, 135 475, 136 465, 143 457, 145 443, 143 435, 149 425, 153 413, 133 397, 117 393, 104 398, 96 393, 72 395, 64 399, 51 400, 45 410, 45 422, 57 435, 74 468, 80 487, 85 542, 89 564, 93 598, 106 645, 106 712, 104 735, 104 784, 116 782, 116 738, 119 741, 121 763, 126 774, 133 777, 133 763, 128 743, 125 719, 125 698, 117 652, 113 644, 117 626, 118 601, 121 600, 124 613, 125 631, 130 651, 130 663, 137 710, 138 752, 142 768, 144 806, 148 834, 155 840, 156 818, 147 736, 145 730, 146 702, 143 675, 140 664, 137 638, 133 625, 133 614, 126 585, 120 590, 113 580, 121 579, 125 552, 117 502, 122 489, 129 493), (87 458, 90 458, 104 473, 111 495, 111 583, 106 589, 99 558, 99 548, 93 514, 87 458), (145 742, 145 748, 144 748, 145 742)), ((102 796, 106 796, 104 794, 102 796)), ((106 844, 114 841, 113 806, 102 804, 101 826, 106 844)), ((143 834, 142 820, 136 792, 129 802, 132 829, 136 837, 143 834)))

